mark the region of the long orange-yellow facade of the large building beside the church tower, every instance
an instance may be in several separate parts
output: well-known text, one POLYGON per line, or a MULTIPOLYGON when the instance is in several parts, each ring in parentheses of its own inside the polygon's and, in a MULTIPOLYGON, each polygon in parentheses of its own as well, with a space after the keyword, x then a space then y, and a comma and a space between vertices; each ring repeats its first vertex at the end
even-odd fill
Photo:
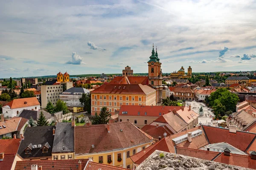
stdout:
POLYGON ((113 115, 119 111, 121 105, 156 105, 156 91, 145 95, 134 94, 92 94, 91 96, 91 114, 99 113, 102 107, 107 107, 113 115))

